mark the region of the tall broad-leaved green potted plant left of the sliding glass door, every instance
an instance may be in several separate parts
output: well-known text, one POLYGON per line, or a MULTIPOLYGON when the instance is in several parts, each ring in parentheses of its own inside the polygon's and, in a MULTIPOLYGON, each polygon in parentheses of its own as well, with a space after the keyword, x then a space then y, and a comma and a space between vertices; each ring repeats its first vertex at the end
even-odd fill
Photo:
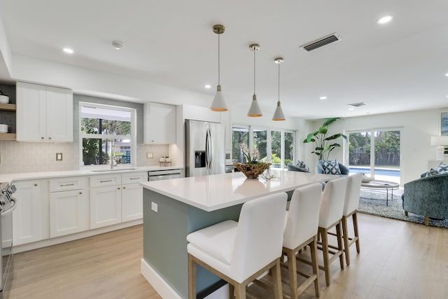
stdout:
POLYGON ((328 125, 334 123, 338 119, 340 118, 328 118, 328 120, 325 120, 325 123, 323 123, 323 125, 321 125, 316 132, 309 133, 307 138, 303 141, 304 144, 309 142, 314 142, 314 144, 316 144, 314 151, 311 151, 311 153, 315 153, 319 160, 328 160, 330 152, 341 146, 340 144, 332 143, 333 140, 342 137, 345 141, 348 141, 344 134, 338 133, 329 135, 328 133, 328 125))

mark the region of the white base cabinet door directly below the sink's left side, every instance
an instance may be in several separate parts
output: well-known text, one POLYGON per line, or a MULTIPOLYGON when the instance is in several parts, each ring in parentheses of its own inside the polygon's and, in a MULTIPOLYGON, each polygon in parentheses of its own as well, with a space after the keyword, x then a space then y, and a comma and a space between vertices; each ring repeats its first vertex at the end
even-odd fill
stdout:
POLYGON ((121 187, 90 188, 90 228, 121 222, 121 187))

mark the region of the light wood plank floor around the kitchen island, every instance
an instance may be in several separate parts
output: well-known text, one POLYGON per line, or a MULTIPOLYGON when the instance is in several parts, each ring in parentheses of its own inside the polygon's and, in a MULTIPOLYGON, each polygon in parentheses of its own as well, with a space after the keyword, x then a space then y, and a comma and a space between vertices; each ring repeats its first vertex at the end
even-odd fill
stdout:
MULTIPOLYGON (((361 253, 351 246, 345 270, 332 263, 328 288, 319 272, 321 298, 448 298, 447 229, 366 214, 358 220, 361 253)), ((137 225, 18 253, 10 299, 160 298, 140 274, 141 237, 137 225)), ((250 291, 271 298, 258 286, 250 291)), ((314 298, 314 287, 300 298, 314 298)))

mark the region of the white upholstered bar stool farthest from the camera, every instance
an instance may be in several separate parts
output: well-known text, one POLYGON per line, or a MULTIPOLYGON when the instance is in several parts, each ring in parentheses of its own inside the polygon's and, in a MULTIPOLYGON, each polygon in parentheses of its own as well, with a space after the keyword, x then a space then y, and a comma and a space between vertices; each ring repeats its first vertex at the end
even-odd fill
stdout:
POLYGON ((345 261, 350 265, 350 246, 356 243, 356 251, 360 253, 359 234, 358 234, 358 207, 359 193, 363 174, 353 174, 347 178, 347 188, 345 193, 344 210, 342 211, 342 236, 344 239, 345 261), (349 228, 347 218, 351 216, 353 220, 354 237, 349 237, 349 228))

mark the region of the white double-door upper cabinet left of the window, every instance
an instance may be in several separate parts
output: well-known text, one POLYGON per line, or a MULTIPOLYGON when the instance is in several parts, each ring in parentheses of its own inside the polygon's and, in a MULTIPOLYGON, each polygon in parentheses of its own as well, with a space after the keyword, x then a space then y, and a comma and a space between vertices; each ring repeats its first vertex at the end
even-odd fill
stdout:
POLYGON ((17 83, 17 140, 73 141, 73 92, 17 83))

